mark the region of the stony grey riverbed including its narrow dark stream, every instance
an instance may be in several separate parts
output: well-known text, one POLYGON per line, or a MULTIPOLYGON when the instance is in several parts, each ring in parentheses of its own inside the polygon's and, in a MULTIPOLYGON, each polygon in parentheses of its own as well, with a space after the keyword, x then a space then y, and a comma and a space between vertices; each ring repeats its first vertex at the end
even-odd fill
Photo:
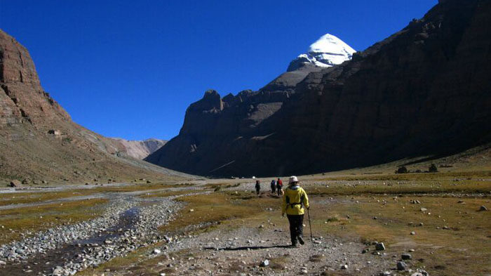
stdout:
POLYGON ((116 256, 159 242, 157 227, 182 207, 177 196, 119 197, 99 218, 60 225, 0 247, 0 275, 74 275, 116 256))

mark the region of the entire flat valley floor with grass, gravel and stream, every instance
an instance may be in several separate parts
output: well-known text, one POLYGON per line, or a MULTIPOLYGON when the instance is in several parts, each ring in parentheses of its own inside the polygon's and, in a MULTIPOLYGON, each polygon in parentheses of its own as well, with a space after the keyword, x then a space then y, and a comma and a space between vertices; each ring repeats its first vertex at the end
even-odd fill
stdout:
POLYGON ((4 190, 0 275, 491 275, 488 170, 303 176, 297 248, 270 180, 4 190))

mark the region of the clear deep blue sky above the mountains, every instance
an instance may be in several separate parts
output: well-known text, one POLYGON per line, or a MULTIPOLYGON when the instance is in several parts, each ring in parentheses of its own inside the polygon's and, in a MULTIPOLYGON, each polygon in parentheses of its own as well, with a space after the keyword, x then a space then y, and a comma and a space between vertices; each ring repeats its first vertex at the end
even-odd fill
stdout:
POLYGON ((361 51, 437 0, 0 0, 43 88, 109 137, 177 135, 187 106, 261 88, 325 33, 361 51))

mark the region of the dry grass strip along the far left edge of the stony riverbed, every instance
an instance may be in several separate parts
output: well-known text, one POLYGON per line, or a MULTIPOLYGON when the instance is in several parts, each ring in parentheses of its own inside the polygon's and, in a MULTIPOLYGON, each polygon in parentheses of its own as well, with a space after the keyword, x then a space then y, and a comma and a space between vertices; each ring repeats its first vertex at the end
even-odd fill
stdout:
POLYGON ((64 223, 95 218, 107 199, 90 199, 0 211, 0 244, 20 239, 21 233, 37 232, 64 223))

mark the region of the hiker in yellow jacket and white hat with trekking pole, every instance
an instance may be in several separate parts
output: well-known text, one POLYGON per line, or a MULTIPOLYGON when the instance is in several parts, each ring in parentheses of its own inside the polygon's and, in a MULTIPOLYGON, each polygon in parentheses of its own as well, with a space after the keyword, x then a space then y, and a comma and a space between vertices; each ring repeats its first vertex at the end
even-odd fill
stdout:
POLYGON ((297 176, 290 176, 288 179, 288 187, 283 195, 283 204, 281 206, 281 216, 285 213, 290 223, 290 238, 292 247, 297 247, 297 240, 300 244, 304 244, 303 238, 303 223, 304 223, 304 208, 309 209, 309 197, 307 192, 298 185, 297 176))

